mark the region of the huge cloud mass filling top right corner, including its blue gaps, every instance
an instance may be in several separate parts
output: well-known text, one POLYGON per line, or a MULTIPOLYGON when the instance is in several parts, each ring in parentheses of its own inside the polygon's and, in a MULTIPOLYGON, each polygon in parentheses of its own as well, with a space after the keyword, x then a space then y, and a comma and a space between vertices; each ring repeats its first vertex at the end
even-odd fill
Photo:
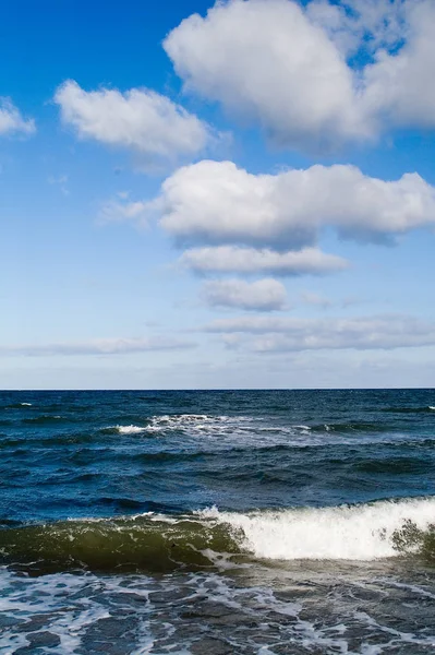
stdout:
POLYGON ((279 146, 328 150, 435 127, 434 21, 431 0, 232 0, 164 47, 186 91, 279 146))

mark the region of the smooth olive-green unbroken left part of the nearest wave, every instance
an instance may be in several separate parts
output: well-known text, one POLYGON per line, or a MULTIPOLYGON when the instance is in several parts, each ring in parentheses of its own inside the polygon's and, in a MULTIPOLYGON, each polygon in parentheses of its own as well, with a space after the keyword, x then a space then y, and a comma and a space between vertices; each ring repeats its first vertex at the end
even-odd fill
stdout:
POLYGON ((86 568, 167 572, 215 565, 223 552, 240 552, 228 525, 198 516, 81 520, 0 529, 4 563, 38 572, 86 568))

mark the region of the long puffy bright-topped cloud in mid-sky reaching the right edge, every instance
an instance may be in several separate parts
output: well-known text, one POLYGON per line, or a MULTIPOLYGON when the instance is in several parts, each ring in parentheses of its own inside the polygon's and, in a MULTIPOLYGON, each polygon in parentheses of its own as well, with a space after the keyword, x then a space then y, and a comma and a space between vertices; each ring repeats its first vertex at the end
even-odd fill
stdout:
POLYGON ((340 237, 379 241, 435 225, 435 189, 418 174, 384 181, 350 165, 252 175, 232 162, 203 160, 167 178, 149 206, 184 247, 285 251, 313 246, 325 227, 340 237))

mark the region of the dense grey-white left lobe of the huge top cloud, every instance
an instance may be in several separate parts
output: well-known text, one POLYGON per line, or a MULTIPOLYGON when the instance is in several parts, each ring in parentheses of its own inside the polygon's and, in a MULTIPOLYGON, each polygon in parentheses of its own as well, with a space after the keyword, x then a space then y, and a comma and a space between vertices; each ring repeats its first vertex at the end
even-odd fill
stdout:
POLYGON ((258 121, 279 144, 370 136, 352 73, 327 33, 287 0, 218 2, 164 47, 189 90, 258 121))

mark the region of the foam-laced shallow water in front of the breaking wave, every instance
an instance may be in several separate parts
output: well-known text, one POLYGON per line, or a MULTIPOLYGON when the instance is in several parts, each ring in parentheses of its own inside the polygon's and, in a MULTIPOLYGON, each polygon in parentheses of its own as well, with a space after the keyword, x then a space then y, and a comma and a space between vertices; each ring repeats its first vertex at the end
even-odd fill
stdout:
MULTIPOLYGON (((412 653, 414 646, 425 653, 435 645, 431 628, 416 627, 412 617, 403 621, 409 608, 397 617, 383 614, 379 600, 389 595, 388 579, 374 584, 346 573, 313 571, 302 586, 300 582, 295 574, 273 590, 267 579, 249 575, 156 580, 63 573, 26 579, 0 569, 5 621, 0 650, 8 655, 20 648, 56 655, 382 655, 412 653)), ((414 587, 409 596, 407 585, 398 584, 402 602, 424 593, 414 587)), ((421 609, 431 616, 430 607, 421 609)))

